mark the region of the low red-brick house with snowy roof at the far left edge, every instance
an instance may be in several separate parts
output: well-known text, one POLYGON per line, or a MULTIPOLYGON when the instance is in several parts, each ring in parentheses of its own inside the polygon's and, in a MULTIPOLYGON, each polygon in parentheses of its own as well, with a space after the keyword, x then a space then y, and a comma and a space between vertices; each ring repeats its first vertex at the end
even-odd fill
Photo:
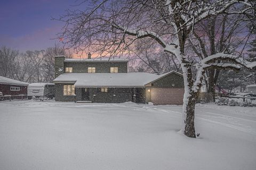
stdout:
POLYGON ((28 83, 0 76, 0 91, 6 95, 27 95, 28 83))

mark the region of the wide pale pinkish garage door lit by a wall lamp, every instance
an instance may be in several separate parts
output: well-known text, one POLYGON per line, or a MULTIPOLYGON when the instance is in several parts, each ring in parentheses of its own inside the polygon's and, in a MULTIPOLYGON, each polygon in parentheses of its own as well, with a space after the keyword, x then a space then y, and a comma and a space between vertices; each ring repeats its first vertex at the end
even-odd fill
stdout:
POLYGON ((151 102, 155 105, 182 105, 184 88, 152 88, 151 102))

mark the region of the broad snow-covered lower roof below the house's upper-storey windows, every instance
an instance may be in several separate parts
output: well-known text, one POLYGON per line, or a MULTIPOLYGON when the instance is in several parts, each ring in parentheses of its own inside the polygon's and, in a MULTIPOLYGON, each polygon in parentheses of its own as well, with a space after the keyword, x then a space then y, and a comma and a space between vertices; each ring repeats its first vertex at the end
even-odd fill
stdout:
POLYGON ((150 73, 64 73, 53 80, 73 82, 75 87, 144 87, 145 84, 159 78, 150 73))

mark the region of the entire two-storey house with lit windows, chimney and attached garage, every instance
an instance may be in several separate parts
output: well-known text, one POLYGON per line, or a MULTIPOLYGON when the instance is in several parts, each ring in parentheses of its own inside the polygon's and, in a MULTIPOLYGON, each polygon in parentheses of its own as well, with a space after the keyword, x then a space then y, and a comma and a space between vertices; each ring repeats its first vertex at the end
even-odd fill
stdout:
POLYGON ((95 103, 183 103, 182 74, 127 73, 127 60, 120 58, 69 59, 55 57, 55 100, 95 103))

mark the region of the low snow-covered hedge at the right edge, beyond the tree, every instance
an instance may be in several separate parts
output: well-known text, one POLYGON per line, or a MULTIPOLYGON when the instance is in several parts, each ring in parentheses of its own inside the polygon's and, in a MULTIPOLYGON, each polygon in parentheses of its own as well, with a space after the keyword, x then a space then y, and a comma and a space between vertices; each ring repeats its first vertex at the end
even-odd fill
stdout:
POLYGON ((219 98, 215 103, 220 106, 224 105, 224 106, 256 107, 256 104, 252 103, 251 101, 239 102, 234 99, 229 99, 225 97, 219 98))

